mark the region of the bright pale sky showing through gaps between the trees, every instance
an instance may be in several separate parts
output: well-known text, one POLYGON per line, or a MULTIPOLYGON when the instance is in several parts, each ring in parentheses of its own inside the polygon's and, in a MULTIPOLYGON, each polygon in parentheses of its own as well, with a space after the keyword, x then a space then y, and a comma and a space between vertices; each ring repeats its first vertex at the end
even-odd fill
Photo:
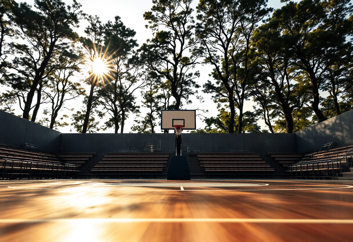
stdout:
MULTIPOLYGON (((152 7, 152 1, 151 0, 77 0, 80 4, 82 4, 82 10, 84 13, 88 15, 97 15, 100 17, 102 23, 106 23, 107 21, 114 21, 115 16, 120 16, 121 21, 128 27, 136 31, 136 35, 134 39, 137 40, 139 45, 142 45, 146 39, 152 37, 152 32, 150 29, 146 29, 145 25, 148 24, 147 21, 144 20, 143 14, 145 11, 149 11, 152 7)), ((32 5, 34 4, 33 0, 30 1, 25 1, 28 4, 32 5)), ((72 4, 72 1, 70 0, 64 0, 67 4, 72 4)), ((198 1, 195 0, 192 3, 192 8, 195 9, 198 4, 198 1)), ((272 7, 274 9, 281 7, 283 4, 280 2, 280 0, 269 0, 268 1, 268 7, 272 7)), ((196 11, 194 11, 196 13, 196 11)), ((80 21, 80 27, 77 29, 77 32, 81 36, 85 36, 84 34, 84 29, 88 25, 88 22, 85 20, 80 21)), ((202 86, 207 80, 211 80, 212 78, 209 76, 211 66, 210 65, 197 65, 196 70, 200 71, 200 77, 196 80, 200 86, 202 86)), ((84 75, 84 73, 83 73, 84 75)), ((85 85, 84 85, 85 86, 85 85)), ((89 86, 85 87, 87 90, 89 86)), ((183 109, 201 109, 201 110, 209 110, 208 113, 202 113, 202 115, 206 117, 211 117, 211 116, 216 116, 218 111, 217 111, 217 104, 213 102, 211 99, 210 94, 205 94, 202 92, 202 88, 199 88, 198 90, 199 95, 201 94, 203 96, 203 103, 201 103, 199 100, 196 99, 196 97, 191 97, 190 99, 192 100, 192 104, 189 105, 184 105, 183 109)), ((137 98, 137 105, 141 104, 141 98, 139 98, 141 95, 139 92, 136 93, 137 98)), ((184 101, 185 102, 185 101, 184 101)), ((74 112, 80 109, 82 106, 82 99, 78 100, 72 100, 70 102, 67 102, 66 107, 71 109, 74 108, 74 112)), ((253 108, 252 106, 254 103, 252 101, 247 101, 244 106, 244 112, 245 111, 252 111, 253 108)), ((44 108, 44 106, 42 106, 44 108)), ((21 114, 19 111, 19 108, 16 111, 16 114, 21 114)), ((145 115, 145 110, 144 108, 140 108, 141 111, 141 116, 145 115)), ((62 111, 63 113, 67 113, 67 111, 64 109, 62 111)), ((42 113, 42 112, 41 112, 42 113)), ((70 113, 67 113, 70 114, 70 113)), ((42 118, 42 116, 39 116, 39 119, 42 118)), ((124 127, 124 133, 131 132, 131 126, 135 124, 134 119, 138 119, 136 115, 131 114, 128 119, 125 121, 125 127, 124 127)), ((66 120, 67 122, 70 122, 70 120, 66 120)), ((103 120, 100 120, 101 123, 104 123, 103 120)), ((259 125, 261 125, 262 129, 267 129, 265 126, 265 123, 262 120, 259 120, 259 125)), ((203 128, 205 125, 200 120, 200 118, 197 118, 196 121, 196 126, 197 128, 203 128)), ((70 129, 72 127, 63 127, 59 128, 59 131, 62 133, 68 133, 70 132, 70 129)), ((72 130, 72 132, 76 132, 72 130)), ((113 133, 114 128, 107 129, 106 131, 99 131, 99 133, 113 133)), ((120 132, 120 130, 119 130, 120 132)), ((156 132, 159 132, 158 127, 156 128, 156 132)))

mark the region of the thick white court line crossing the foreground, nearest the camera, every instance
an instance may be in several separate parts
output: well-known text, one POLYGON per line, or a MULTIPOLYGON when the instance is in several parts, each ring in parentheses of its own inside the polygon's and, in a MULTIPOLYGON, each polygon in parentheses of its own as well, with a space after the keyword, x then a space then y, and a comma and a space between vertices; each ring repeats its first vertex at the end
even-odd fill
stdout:
POLYGON ((101 218, 101 219, 0 219, 0 224, 19 223, 257 223, 257 224, 353 224, 353 219, 254 219, 254 218, 101 218))

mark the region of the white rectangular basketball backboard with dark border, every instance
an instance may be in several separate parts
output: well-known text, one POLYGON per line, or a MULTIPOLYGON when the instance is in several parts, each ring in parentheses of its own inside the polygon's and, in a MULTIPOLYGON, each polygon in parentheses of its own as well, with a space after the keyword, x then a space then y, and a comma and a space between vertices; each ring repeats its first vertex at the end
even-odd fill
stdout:
POLYGON ((174 125, 196 129, 196 110, 162 110, 161 129, 174 129, 174 125))

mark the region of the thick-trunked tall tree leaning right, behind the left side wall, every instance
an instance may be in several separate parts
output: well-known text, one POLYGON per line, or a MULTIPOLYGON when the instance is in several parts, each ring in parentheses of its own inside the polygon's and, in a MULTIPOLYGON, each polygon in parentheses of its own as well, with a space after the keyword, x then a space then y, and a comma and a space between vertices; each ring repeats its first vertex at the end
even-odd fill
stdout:
POLYGON ((75 0, 71 6, 61 0, 35 0, 38 11, 26 3, 12 1, 12 4, 11 18, 26 41, 26 44, 13 44, 12 47, 22 54, 14 60, 19 75, 23 76, 22 79, 30 79, 23 100, 23 118, 29 119, 38 85, 56 68, 51 63, 52 56, 67 48, 70 42, 77 41, 78 35, 72 27, 78 27, 83 13, 75 0))

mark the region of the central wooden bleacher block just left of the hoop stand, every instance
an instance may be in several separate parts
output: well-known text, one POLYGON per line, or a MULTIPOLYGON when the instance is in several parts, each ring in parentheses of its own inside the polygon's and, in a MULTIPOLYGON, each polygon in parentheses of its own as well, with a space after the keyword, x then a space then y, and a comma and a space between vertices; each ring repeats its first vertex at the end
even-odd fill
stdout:
POLYGON ((108 153, 92 169, 94 172, 161 172, 169 155, 108 153))

